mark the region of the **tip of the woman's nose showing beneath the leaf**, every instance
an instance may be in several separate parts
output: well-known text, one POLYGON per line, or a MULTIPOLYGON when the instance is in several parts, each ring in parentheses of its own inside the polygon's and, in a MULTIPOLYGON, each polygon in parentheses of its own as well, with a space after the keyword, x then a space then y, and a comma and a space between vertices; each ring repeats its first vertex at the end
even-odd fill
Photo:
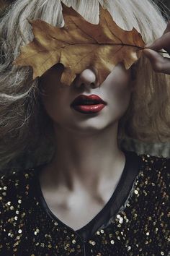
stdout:
POLYGON ((96 69, 84 69, 81 74, 77 77, 76 87, 80 88, 81 86, 88 86, 91 88, 97 88, 99 86, 99 81, 97 79, 97 70, 96 69))

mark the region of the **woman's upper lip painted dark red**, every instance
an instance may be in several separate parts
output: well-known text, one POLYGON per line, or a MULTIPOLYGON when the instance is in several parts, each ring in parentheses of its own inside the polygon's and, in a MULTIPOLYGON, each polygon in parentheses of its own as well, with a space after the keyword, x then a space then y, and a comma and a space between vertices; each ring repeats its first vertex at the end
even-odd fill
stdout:
POLYGON ((83 103, 90 103, 90 102, 91 104, 99 104, 99 103, 103 103, 105 105, 107 104, 98 95, 91 94, 91 95, 79 95, 73 100, 73 102, 71 103, 71 106, 81 105, 83 103))

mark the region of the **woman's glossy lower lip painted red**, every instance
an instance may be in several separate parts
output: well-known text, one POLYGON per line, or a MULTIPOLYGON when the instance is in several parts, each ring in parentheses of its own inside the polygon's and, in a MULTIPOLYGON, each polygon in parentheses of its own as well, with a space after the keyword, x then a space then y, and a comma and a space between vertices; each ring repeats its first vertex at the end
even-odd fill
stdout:
POLYGON ((102 110, 102 108, 104 108, 104 104, 96 104, 96 105, 76 105, 76 106, 73 106, 73 108, 76 110, 76 111, 79 111, 81 113, 84 113, 84 114, 93 114, 93 113, 97 113, 99 111, 102 110))

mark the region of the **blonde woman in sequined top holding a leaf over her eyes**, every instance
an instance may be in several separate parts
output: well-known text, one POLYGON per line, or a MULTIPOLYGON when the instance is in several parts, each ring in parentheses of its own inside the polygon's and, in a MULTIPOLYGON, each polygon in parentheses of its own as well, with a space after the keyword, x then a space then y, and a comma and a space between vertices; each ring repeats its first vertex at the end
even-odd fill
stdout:
MULTIPOLYGON (((97 22, 98 1, 63 2, 97 22)), ((55 145, 49 163, 1 176, 1 255, 169 254, 169 161, 117 145, 117 133, 169 139, 170 61, 157 52, 170 51, 169 25, 148 0, 100 3, 122 28, 154 41, 143 51, 151 66, 145 56, 128 70, 119 63, 101 86, 94 67, 66 86, 61 64, 34 81, 31 69, 12 65, 32 40, 26 18, 61 25, 60 1, 18 0, 1 20, 2 160, 55 145), (89 110, 84 95, 102 108, 89 110)))

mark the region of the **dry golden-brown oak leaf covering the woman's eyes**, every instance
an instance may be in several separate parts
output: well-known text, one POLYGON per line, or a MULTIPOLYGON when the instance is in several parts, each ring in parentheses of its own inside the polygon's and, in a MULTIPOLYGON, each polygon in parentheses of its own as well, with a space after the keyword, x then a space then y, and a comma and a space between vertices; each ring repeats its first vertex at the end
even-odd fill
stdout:
POLYGON ((145 46, 135 28, 122 30, 107 9, 100 6, 99 24, 87 22, 72 7, 63 7, 64 27, 54 27, 42 20, 32 20, 34 40, 22 46, 14 61, 19 66, 31 66, 33 79, 40 77, 54 64, 64 65, 61 82, 71 82, 88 67, 98 70, 101 84, 120 62, 129 69, 145 46))

